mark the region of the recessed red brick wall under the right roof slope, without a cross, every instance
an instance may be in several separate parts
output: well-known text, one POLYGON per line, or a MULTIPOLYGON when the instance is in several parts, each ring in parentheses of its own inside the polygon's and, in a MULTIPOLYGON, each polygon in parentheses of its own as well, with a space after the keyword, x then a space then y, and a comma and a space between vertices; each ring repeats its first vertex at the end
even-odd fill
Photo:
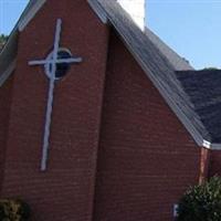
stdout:
POLYGON ((112 34, 94 220, 171 221, 199 171, 200 148, 112 34))

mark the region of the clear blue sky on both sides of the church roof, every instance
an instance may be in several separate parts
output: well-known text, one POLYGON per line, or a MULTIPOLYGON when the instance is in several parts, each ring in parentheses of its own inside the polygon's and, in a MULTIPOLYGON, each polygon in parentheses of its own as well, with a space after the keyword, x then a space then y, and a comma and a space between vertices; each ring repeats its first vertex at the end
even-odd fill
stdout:
MULTIPOLYGON (((0 0, 9 34, 28 0, 0 0)), ((147 0, 147 25, 196 69, 221 67, 221 0, 147 0)))

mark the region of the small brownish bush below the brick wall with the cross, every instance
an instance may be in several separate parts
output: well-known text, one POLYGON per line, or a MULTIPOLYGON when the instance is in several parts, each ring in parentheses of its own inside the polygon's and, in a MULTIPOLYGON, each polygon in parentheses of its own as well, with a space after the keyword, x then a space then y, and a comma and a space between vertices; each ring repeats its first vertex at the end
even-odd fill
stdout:
POLYGON ((21 200, 0 200, 0 221, 28 221, 30 207, 21 200))

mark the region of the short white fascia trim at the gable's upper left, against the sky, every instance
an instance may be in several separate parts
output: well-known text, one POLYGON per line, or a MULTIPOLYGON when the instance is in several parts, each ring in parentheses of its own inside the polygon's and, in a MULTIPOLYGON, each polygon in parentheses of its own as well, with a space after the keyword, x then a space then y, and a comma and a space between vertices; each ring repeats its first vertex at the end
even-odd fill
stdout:
POLYGON ((38 0, 38 1, 35 1, 35 4, 31 8, 31 10, 28 12, 28 14, 24 18, 22 18, 22 20, 18 24, 20 32, 24 30, 24 28, 34 18, 36 12, 42 8, 42 6, 45 2, 46 2, 46 0, 38 0))

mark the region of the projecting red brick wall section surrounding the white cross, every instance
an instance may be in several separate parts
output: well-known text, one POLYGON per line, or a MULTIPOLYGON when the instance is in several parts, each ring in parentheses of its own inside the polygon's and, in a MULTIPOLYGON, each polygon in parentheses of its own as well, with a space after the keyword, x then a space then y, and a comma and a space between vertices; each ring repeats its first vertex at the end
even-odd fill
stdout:
POLYGON ((27 200, 38 221, 92 220, 108 29, 85 0, 50 0, 21 33, 8 137, 4 197, 27 200), (43 59, 62 18, 62 46, 83 63, 55 85, 49 168, 40 171, 49 81, 43 59))

